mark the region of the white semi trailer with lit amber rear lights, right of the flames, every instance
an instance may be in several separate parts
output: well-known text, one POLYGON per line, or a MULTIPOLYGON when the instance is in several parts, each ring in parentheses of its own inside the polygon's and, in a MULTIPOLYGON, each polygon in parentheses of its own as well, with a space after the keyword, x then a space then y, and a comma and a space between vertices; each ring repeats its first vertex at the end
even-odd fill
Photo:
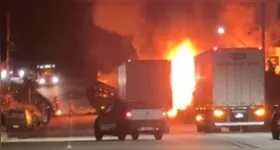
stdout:
POLYGON ((195 57, 198 132, 221 127, 247 131, 265 124, 264 53, 259 48, 220 48, 195 57))

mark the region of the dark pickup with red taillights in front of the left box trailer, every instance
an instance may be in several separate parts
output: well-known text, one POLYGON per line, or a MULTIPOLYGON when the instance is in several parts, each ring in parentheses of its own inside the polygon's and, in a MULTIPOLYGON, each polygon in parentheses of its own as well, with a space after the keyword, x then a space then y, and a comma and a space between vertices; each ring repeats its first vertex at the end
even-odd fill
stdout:
POLYGON ((126 135, 131 135, 133 140, 139 138, 140 133, 152 134, 156 140, 161 140, 164 133, 169 132, 162 110, 131 109, 127 103, 115 100, 104 111, 99 111, 94 124, 95 138, 102 140, 103 135, 118 136, 125 140, 126 135))

